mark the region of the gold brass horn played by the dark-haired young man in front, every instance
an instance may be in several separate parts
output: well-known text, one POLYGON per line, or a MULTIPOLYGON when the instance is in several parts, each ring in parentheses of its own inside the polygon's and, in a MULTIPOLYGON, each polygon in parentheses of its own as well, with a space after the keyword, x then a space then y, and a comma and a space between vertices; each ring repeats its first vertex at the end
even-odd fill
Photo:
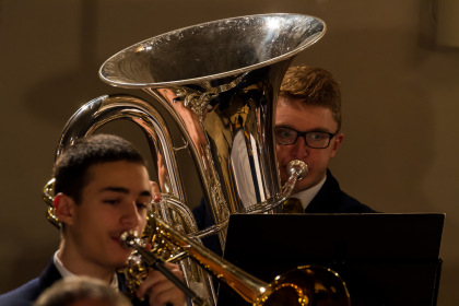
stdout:
MULTIPOLYGON (((266 283, 180 234, 153 213, 149 216, 149 226, 154 231, 154 239, 150 242, 138 238, 131 232, 121 235, 121 243, 138 250, 143 257, 143 262, 157 262, 163 250, 163 247, 153 247, 150 250, 145 245, 163 245, 166 242, 176 250, 184 251, 254 306, 351 305, 345 283, 329 268, 302 266, 266 283)), ((192 295, 192 301, 204 305, 196 295, 192 295)))

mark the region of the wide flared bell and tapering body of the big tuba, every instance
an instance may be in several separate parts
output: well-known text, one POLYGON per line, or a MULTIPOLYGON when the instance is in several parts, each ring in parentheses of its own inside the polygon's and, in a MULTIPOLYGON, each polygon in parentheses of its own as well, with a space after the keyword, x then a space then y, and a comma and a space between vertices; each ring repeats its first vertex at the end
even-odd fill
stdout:
MULTIPOLYGON (((280 195, 276 96, 294 56, 325 30, 320 20, 299 14, 209 22, 130 46, 109 58, 99 76, 114 86, 143 90, 168 110, 219 225, 228 214, 280 195)), ((165 190, 161 177, 160 183, 165 190)), ((220 235, 223 246, 224 232, 220 235)))

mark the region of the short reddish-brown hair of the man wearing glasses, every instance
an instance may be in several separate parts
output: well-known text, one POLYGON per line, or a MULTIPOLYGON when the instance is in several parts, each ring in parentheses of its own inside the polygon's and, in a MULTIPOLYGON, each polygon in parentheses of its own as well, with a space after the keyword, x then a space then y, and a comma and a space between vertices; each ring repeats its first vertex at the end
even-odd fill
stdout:
POLYGON ((333 74, 327 70, 306 64, 290 67, 282 81, 280 96, 298 98, 307 104, 329 108, 340 130, 340 85, 333 74))

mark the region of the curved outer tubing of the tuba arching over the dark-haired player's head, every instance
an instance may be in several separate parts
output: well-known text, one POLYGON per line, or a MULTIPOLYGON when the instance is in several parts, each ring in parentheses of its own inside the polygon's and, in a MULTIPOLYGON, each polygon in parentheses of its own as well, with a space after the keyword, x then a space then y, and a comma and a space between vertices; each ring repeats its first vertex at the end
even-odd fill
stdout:
MULTIPOLYGON (((168 169, 165 186, 170 193, 163 197, 168 199, 172 210, 179 212, 181 220, 185 221, 186 228, 192 233, 199 234, 196 220, 190 209, 185 204, 185 192, 183 188, 183 179, 177 166, 175 149, 172 144, 172 138, 163 116, 154 106, 144 99, 131 95, 104 95, 87 102, 82 106, 67 122, 56 150, 56 160, 67 150, 73 142, 86 136, 93 134, 103 125, 117 120, 127 119, 137 123, 145 133, 150 148, 155 150, 156 155, 162 155, 168 169)), ((54 181, 51 178, 43 188, 43 199, 48 204, 47 220, 60 227, 59 220, 56 217, 54 209, 54 181)), ((161 208, 160 208, 161 209, 161 208)), ((166 209, 161 210, 164 219, 170 220, 170 213, 166 209)), ((195 262, 183 262, 184 275, 187 284, 196 283, 203 286, 203 291, 208 292, 209 301, 214 299, 213 284, 209 275, 204 275, 201 271, 197 271, 195 262)))

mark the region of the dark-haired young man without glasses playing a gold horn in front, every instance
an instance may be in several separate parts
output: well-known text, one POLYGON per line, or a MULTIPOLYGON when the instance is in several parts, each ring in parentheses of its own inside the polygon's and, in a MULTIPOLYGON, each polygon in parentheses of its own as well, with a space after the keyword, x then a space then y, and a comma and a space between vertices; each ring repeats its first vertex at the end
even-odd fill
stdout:
MULTIPOLYGON (((58 158, 54 207, 61 224, 61 243, 51 262, 37 279, 0 296, 0 305, 32 305, 59 279, 95 278, 125 292, 118 273, 132 249, 120 244, 123 232, 143 232, 152 200, 151 183, 141 154, 128 141, 114 136, 93 136, 75 141, 58 158)), ((178 278, 178 266, 166 263, 178 278)), ((137 291, 133 305, 184 306, 186 298, 158 271, 137 291)))

